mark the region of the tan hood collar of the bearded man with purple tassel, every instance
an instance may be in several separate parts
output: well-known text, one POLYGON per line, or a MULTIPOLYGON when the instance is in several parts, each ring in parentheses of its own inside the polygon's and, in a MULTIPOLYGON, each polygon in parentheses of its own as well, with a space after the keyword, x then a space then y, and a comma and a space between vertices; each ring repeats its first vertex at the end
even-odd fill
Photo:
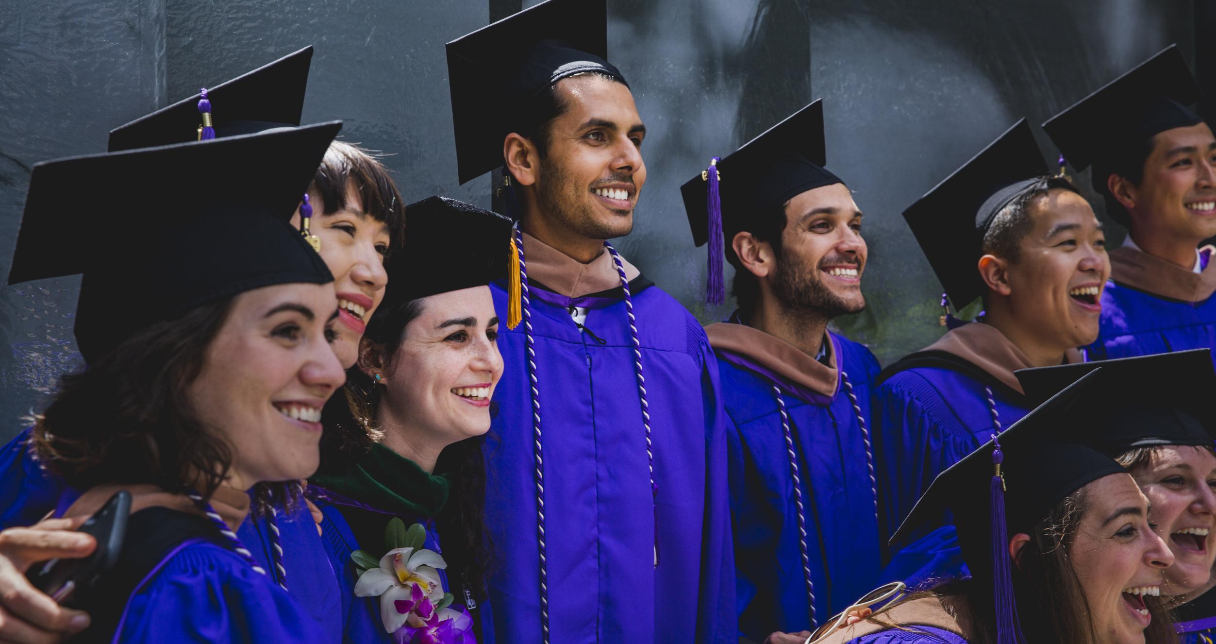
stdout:
POLYGON ((715 352, 727 352, 742 358, 742 366, 762 375, 777 375, 781 380, 818 396, 831 398, 837 393, 840 383, 840 352, 831 332, 824 332, 823 336, 823 362, 779 337, 742 324, 737 312, 728 321, 706 326, 705 335, 715 352))

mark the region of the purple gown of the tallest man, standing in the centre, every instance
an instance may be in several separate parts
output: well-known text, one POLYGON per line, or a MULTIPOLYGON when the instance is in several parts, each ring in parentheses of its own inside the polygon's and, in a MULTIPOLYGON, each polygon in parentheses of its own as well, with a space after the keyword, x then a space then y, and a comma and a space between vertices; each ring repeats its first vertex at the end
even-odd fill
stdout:
MULTIPOLYGON (((657 510, 621 289, 572 299, 531 281, 550 642, 736 642, 717 364, 705 332, 675 298, 644 278, 630 287, 649 402, 657 510), (570 306, 589 309, 589 332, 575 326, 570 306)), ((491 291, 506 320, 505 285, 491 291)), ((485 520, 497 570, 489 578, 494 633, 484 637, 505 643, 542 638, 524 327, 500 326, 506 370, 485 446, 485 520)))

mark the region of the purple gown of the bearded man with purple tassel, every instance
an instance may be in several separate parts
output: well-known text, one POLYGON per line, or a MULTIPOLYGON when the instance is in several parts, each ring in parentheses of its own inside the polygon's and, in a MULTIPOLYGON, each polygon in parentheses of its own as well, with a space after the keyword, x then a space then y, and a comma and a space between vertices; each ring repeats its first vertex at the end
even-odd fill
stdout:
MULTIPOLYGON (((878 360, 862 345, 828 337, 868 429, 878 360)), ((773 631, 812 631, 877 586, 878 521, 856 411, 839 379, 828 397, 748 355, 715 351, 727 415, 739 635, 762 642, 773 631), (782 386, 799 464, 815 625, 807 611, 794 480, 775 382, 782 386)))

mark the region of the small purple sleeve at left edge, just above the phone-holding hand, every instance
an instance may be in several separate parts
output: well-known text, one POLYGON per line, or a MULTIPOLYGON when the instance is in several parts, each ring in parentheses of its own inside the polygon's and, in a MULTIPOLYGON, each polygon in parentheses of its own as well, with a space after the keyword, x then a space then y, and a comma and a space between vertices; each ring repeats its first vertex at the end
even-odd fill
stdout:
POLYGON ((30 431, 26 429, 0 448, 0 530, 36 523, 55 510, 66 489, 29 450, 30 431))

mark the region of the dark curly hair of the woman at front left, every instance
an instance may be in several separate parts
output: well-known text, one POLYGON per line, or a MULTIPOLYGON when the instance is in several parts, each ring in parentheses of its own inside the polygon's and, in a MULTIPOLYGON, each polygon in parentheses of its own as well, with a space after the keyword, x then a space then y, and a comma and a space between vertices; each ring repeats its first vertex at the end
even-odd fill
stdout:
MULTIPOLYGON (((150 325, 64 375, 55 401, 34 416, 39 460, 79 489, 152 483, 185 492, 193 483, 210 499, 232 466, 232 447, 202 424, 187 392, 235 297, 150 325)), ((255 508, 264 510, 271 494, 291 508, 299 486, 259 483, 255 508)))

